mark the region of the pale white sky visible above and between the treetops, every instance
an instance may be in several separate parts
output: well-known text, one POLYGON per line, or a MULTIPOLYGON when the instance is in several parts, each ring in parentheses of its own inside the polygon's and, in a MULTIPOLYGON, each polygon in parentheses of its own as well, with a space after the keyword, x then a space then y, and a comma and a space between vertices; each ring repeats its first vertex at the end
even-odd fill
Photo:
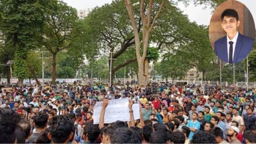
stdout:
MULTIPOLYGON (((102 6, 105 3, 111 3, 112 0, 62 0, 67 3, 67 5, 74 7, 77 10, 83 10, 86 8, 94 8, 96 6, 102 6)), ((256 0, 238 0, 242 2, 251 12, 254 18, 254 23, 256 24, 256 0)), ((212 17, 212 9, 209 7, 203 9, 204 6, 185 6, 183 3, 178 3, 178 7, 183 11, 184 14, 188 15, 188 18, 193 22, 198 24, 209 25, 210 18, 212 17)))

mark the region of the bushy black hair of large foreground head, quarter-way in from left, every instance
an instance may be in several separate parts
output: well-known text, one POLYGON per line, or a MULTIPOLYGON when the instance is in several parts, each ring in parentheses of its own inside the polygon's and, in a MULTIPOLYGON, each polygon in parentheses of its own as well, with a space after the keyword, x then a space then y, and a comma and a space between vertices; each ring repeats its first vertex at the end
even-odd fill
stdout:
POLYGON ((54 143, 64 143, 74 133, 74 122, 66 116, 53 117, 48 130, 54 143))

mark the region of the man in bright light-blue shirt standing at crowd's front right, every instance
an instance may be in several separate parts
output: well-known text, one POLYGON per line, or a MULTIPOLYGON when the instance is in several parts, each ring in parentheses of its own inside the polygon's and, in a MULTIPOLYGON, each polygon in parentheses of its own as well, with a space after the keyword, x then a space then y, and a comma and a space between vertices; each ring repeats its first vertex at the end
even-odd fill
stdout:
POLYGON ((188 122, 188 124, 186 126, 189 127, 190 129, 190 134, 189 134, 189 139, 190 141, 192 140, 192 137, 194 135, 194 133, 198 130, 200 130, 200 122, 197 121, 197 117, 198 117, 198 114, 197 113, 193 113, 192 114, 192 120, 190 120, 188 122))

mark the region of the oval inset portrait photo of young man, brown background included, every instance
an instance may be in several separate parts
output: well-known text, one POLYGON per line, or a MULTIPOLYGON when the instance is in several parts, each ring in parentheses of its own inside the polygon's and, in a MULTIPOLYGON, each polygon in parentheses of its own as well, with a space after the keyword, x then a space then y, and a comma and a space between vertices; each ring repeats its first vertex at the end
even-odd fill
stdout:
POLYGON ((243 3, 226 1, 214 10, 209 26, 214 53, 226 63, 239 63, 249 55, 255 40, 253 16, 243 3))

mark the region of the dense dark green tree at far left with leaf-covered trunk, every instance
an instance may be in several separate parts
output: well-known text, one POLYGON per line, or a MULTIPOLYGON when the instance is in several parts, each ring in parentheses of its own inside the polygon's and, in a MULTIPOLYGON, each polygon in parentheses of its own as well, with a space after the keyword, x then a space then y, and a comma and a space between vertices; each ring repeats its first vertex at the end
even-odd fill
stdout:
POLYGON ((0 30, 5 36, 6 47, 14 48, 14 74, 23 85, 23 79, 28 76, 26 64, 28 51, 35 48, 36 38, 43 24, 43 1, 0 2, 0 30))

